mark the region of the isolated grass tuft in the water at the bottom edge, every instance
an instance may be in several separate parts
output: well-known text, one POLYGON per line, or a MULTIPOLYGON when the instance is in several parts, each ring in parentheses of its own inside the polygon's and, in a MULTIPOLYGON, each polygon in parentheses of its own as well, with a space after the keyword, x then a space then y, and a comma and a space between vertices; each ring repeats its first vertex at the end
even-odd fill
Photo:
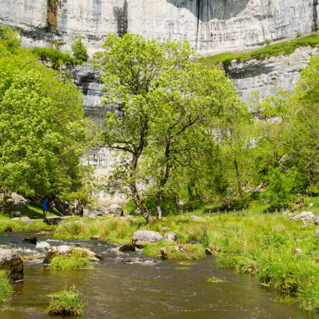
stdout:
POLYGON ((74 286, 57 293, 49 306, 50 315, 83 315, 84 299, 74 286))

